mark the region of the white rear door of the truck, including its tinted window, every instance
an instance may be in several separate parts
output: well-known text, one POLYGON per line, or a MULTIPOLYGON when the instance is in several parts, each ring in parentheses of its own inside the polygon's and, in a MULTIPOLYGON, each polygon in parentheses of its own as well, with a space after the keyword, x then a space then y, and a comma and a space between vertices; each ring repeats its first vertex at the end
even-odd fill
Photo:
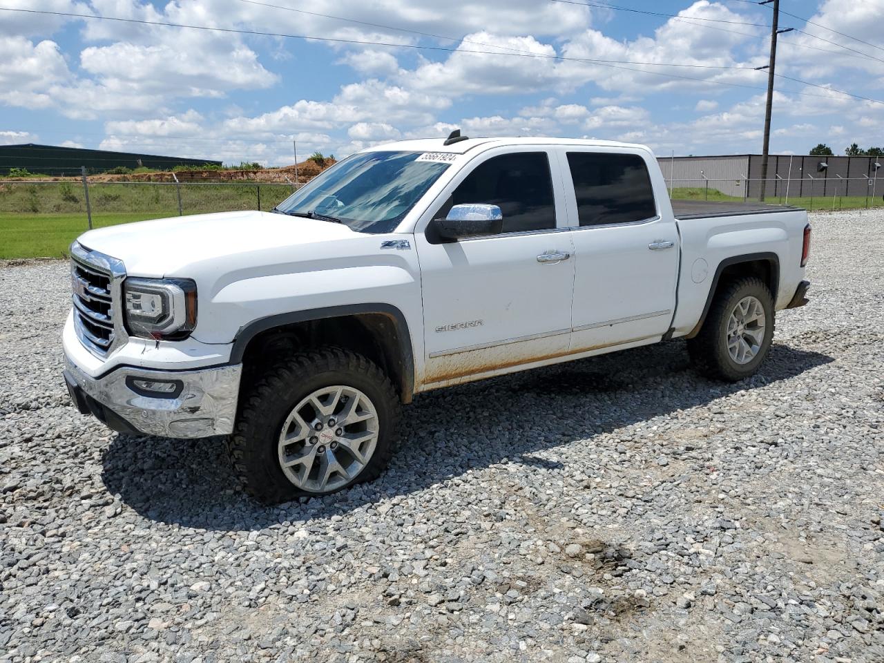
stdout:
POLYGON ((568 147, 559 158, 575 245, 570 351, 659 339, 675 307, 679 238, 654 198, 652 156, 568 147))

